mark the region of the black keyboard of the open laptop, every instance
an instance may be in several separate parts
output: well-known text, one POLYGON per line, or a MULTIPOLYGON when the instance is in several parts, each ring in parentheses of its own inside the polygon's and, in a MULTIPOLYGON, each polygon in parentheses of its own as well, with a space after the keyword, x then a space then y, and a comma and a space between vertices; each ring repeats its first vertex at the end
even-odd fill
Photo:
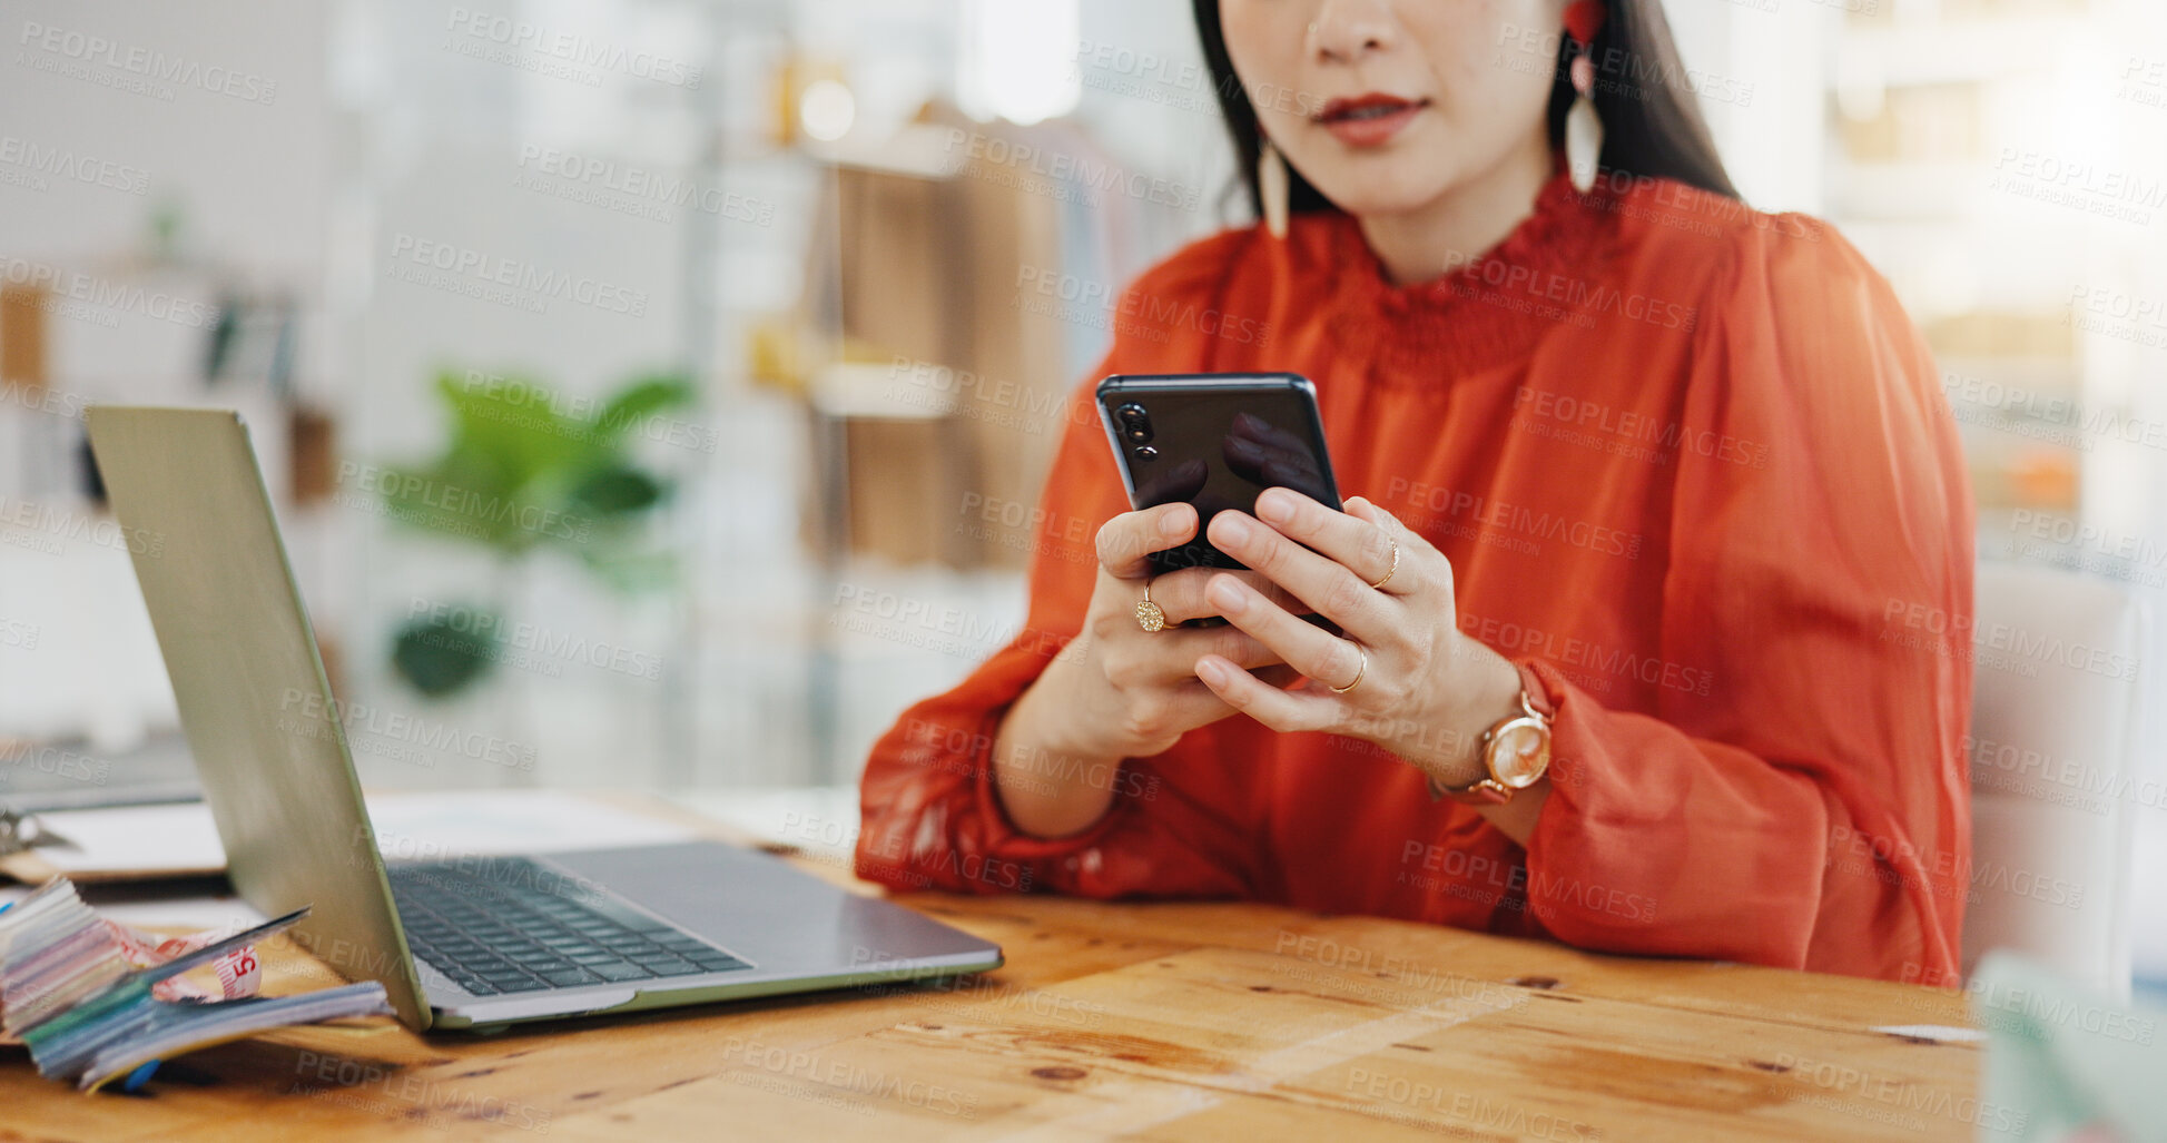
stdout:
POLYGON ((414 954, 472 996, 752 967, 594 885, 520 857, 392 865, 388 872, 414 954))

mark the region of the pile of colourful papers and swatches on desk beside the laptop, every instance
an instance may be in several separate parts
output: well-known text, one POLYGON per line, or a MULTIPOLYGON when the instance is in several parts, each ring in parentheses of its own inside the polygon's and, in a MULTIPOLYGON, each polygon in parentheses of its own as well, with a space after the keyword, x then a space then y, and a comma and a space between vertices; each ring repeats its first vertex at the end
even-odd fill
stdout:
POLYGON ((154 989, 212 965, 234 996, 254 978, 254 943, 308 915, 299 909, 245 933, 137 967, 121 933, 65 878, 0 909, 0 1028, 30 1048, 41 1076, 95 1089, 147 1063, 293 1024, 390 1015, 384 985, 299 996, 165 1000, 154 989))

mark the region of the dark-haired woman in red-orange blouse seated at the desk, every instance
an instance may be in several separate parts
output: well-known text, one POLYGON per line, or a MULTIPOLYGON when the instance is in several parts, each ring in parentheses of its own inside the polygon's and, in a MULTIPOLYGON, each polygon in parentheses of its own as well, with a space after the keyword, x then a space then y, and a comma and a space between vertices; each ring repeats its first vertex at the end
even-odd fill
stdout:
POLYGON ((1311 377, 1346 512, 1146 579, 1196 514, 1127 510, 1081 390, 1029 629, 880 740, 858 872, 1948 978, 1972 503, 1887 284, 1736 202, 1656 0, 1196 20, 1266 223, 1101 373, 1311 377))

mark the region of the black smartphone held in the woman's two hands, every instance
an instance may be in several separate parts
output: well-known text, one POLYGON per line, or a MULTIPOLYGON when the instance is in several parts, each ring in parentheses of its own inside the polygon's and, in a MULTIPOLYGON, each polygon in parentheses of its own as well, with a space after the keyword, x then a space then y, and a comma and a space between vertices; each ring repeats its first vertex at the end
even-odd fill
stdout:
MULTIPOLYGON (((1190 373, 1099 382, 1099 419, 1114 442, 1131 508, 1188 501, 1201 525, 1229 508, 1257 512, 1257 492, 1294 488, 1339 508, 1324 451, 1318 386, 1294 373, 1190 373)), ((1151 555, 1153 573, 1235 568, 1203 527, 1151 555)))

